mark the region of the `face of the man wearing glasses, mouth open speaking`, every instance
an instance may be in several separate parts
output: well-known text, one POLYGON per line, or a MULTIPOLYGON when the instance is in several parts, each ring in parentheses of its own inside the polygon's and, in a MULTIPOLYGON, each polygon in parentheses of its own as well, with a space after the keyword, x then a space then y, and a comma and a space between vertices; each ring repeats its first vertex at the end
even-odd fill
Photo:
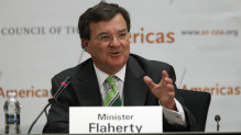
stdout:
POLYGON ((81 43, 95 65, 106 74, 118 72, 130 54, 130 36, 123 16, 118 13, 111 20, 91 22, 89 26, 90 40, 81 40, 81 43))

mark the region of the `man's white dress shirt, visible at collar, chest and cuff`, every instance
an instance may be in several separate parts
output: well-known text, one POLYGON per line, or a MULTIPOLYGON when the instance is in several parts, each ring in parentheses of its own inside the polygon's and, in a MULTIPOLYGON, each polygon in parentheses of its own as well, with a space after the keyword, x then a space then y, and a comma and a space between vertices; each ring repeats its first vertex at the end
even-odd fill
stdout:
MULTIPOLYGON (((96 67, 95 64, 94 64, 94 67, 95 67, 95 70, 96 70, 97 80, 99 82, 99 88, 100 88, 100 93, 101 93, 101 101, 102 101, 102 104, 103 104, 103 99, 105 99, 105 95, 106 95, 107 90, 108 90, 108 85, 105 81, 109 77, 109 75, 101 71, 98 67, 96 67)), ((127 67, 127 65, 124 65, 124 67, 119 72, 117 72, 114 75, 116 77, 118 77, 118 79, 114 79, 114 83, 116 83, 118 90, 120 91, 120 98, 121 98, 122 104, 123 104, 123 101, 124 101, 123 85, 124 85, 124 76, 125 76, 125 69, 127 69, 125 67, 127 67)), ((175 103, 176 103, 177 112, 173 111, 173 110, 168 110, 168 109, 163 106, 164 116, 166 117, 166 120, 169 123, 185 125, 185 113, 184 113, 183 106, 180 105, 180 103, 176 99, 174 99, 174 100, 175 100, 175 103)))

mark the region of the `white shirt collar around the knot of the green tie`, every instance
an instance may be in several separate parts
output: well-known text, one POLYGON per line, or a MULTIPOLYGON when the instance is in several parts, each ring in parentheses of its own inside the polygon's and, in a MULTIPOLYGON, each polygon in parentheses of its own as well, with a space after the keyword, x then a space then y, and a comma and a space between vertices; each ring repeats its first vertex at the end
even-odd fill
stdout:
MULTIPOLYGON (((124 65, 123 68, 114 75, 114 76, 117 76, 123 82, 124 82, 124 76, 125 76, 125 67, 127 67, 127 65, 124 65)), ((101 71, 95 64, 94 64, 94 68, 96 70, 96 76, 97 76, 97 79, 98 79, 98 82, 99 82, 99 88, 101 88, 101 86, 103 85, 105 80, 110 75, 101 71)))

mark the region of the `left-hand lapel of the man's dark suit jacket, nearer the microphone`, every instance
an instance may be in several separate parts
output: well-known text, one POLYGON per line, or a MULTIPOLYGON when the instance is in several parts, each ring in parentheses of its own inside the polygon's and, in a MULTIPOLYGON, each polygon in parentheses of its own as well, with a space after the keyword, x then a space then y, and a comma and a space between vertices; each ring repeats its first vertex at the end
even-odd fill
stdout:
POLYGON ((74 71, 73 87, 83 106, 100 106, 101 95, 92 60, 74 71))

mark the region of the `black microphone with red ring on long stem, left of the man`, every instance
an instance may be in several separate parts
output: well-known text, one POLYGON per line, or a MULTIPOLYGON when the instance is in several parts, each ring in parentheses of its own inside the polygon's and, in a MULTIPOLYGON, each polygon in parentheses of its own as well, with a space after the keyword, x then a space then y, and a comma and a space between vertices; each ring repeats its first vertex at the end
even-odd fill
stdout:
POLYGON ((36 123, 36 121, 40 119, 40 116, 45 112, 46 116, 46 109, 54 102, 57 102, 57 98, 65 91, 65 88, 70 83, 70 78, 66 77, 65 80, 63 82, 61 82, 61 86, 57 90, 57 92, 53 95, 53 98, 48 99, 48 103, 45 105, 45 108, 43 109, 43 111, 39 114, 39 116, 33 121, 33 123, 30 126, 30 130, 28 132, 28 134, 31 133, 34 124, 36 123))

